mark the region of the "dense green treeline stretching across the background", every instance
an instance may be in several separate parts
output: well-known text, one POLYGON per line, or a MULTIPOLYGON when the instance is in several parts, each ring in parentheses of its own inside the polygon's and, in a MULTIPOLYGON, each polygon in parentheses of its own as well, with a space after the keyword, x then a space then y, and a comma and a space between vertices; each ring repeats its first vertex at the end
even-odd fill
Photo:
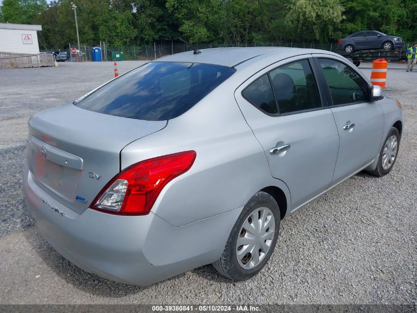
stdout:
POLYGON ((416 0, 3 0, 0 21, 40 24, 39 44, 178 40, 232 45, 329 42, 360 30, 417 41, 416 0))

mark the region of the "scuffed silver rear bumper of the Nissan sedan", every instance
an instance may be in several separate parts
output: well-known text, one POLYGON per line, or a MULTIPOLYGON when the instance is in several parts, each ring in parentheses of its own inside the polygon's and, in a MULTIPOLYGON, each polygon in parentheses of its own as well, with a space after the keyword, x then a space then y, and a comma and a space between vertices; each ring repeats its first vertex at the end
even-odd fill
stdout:
POLYGON ((25 167, 26 205, 43 237, 79 268, 107 279, 151 283, 218 260, 242 208, 175 227, 153 213, 78 214, 47 194, 25 167))

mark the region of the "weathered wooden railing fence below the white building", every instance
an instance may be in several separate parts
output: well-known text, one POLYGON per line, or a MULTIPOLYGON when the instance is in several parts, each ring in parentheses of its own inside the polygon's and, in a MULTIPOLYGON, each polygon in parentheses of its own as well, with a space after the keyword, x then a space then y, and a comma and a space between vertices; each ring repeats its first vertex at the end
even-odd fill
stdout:
POLYGON ((23 54, 0 52, 0 68, 54 66, 55 56, 49 53, 23 54))

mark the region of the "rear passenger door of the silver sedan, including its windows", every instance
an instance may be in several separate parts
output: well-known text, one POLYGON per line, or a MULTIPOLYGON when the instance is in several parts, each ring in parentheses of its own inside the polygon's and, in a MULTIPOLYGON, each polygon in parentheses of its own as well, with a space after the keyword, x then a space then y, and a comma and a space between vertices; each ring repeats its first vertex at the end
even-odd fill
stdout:
POLYGON ((339 147, 333 114, 322 106, 311 62, 311 55, 304 55, 275 63, 235 91, 272 176, 291 192, 292 211, 330 185, 339 147))

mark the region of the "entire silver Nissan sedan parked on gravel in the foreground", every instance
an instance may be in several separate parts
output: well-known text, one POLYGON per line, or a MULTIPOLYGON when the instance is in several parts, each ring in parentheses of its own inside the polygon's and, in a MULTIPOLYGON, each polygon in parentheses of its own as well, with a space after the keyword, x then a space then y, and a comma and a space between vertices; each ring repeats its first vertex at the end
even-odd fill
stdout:
POLYGON ((217 48, 28 124, 23 186, 42 235, 86 271, 147 285, 210 263, 256 275, 281 219, 359 171, 391 171, 403 112, 338 54, 217 48))

